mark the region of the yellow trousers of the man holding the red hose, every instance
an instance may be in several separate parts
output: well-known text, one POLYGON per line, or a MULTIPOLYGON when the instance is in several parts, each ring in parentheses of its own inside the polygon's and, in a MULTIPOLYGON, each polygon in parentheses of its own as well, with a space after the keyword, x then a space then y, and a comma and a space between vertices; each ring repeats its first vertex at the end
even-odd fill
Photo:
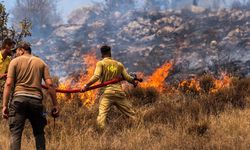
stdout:
POLYGON ((135 111, 132 109, 131 103, 126 99, 125 93, 107 93, 100 98, 99 113, 97 117, 97 125, 99 128, 106 126, 107 114, 112 105, 115 105, 123 114, 135 119, 135 111))

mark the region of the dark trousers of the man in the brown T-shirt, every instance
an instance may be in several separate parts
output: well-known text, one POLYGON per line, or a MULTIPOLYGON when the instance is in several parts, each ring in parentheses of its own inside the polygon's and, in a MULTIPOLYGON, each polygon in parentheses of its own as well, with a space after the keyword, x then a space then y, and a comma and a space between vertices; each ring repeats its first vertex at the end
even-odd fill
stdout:
POLYGON ((28 119, 32 125, 36 149, 45 150, 44 127, 47 124, 47 120, 43 115, 42 101, 26 96, 16 96, 10 104, 10 149, 20 150, 22 132, 26 119, 28 119))

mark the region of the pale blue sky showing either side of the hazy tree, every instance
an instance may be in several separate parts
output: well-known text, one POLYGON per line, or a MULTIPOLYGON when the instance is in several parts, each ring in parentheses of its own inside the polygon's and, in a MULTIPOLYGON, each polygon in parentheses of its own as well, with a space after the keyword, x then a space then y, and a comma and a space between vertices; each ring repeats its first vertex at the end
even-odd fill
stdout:
MULTIPOLYGON (((90 5, 92 1, 100 2, 104 0, 58 0, 58 11, 65 19, 72 10, 84 5, 90 5)), ((2 0, 2 2, 5 4, 6 9, 9 12, 15 5, 16 0, 2 0)))

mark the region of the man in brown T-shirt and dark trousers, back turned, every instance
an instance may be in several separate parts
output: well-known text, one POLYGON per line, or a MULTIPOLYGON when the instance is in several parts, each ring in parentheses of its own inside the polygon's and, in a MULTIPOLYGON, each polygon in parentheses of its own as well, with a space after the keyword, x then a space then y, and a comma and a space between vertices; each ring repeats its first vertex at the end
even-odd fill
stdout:
POLYGON ((53 115, 59 115, 55 88, 50 77, 49 68, 42 59, 32 56, 29 43, 21 42, 16 50, 17 58, 9 65, 7 81, 3 94, 3 118, 9 119, 10 149, 20 150, 21 137, 28 119, 33 128, 36 149, 45 149, 44 127, 47 124, 43 115, 42 80, 48 86, 53 104, 53 115), (14 86, 13 86, 14 85, 14 86), (14 87, 13 99, 8 108, 11 88, 14 87))

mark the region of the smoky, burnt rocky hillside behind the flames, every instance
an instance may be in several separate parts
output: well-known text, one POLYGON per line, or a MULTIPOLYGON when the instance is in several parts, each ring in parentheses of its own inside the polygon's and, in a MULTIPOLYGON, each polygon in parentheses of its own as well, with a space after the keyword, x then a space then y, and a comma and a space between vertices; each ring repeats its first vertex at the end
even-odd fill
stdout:
MULTIPOLYGON (((75 10, 68 24, 50 36, 34 39, 35 54, 65 77, 85 70, 83 55, 111 45, 113 57, 132 72, 152 73, 165 61, 174 63, 169 80, 192 74, 227 72, 250 75, 250 10, 116 11, 98 6, 75 10)), ((100 58, 100 57, 99 57, 100 58)))

